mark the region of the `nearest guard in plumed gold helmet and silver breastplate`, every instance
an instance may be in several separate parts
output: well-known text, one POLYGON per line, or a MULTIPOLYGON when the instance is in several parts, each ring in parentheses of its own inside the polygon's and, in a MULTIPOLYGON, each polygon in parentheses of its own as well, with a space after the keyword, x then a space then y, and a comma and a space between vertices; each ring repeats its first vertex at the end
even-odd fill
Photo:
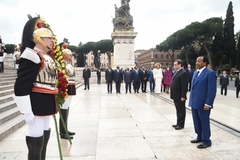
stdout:
POLYGON ((27 123, 28 160, 45 160, 51 116, 57 113, 57 69, 50 53, 54 39, 40 17, 24 26, 14 99, 27 123))

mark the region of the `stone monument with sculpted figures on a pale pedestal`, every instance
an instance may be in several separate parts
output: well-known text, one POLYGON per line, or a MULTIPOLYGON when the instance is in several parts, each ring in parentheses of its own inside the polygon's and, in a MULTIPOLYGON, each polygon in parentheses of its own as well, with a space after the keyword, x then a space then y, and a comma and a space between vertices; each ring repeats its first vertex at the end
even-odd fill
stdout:
POLYGON ((121 6, 115 4, 115 18, 113 18, 112 41, 114 46, 114 62, 112 67, 132 68, 134 63, 134 32, 133 17, 130 14, 130 0, 121 0, 121 6))

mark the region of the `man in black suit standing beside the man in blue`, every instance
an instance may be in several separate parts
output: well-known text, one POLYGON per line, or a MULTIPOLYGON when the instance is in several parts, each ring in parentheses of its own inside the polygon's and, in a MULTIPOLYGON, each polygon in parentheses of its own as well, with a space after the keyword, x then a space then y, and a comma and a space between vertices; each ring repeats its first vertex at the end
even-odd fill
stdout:
POLYGON ((180 59, 175 60, 174 68, 176 73, 173 75, 170 86, 170 98, 173 99, 176 108, 177 124, 172 125, 176 130, 184 128, 186 117, 185 102, 188 91, 188 75, 182 68, 183 62, 180 59))

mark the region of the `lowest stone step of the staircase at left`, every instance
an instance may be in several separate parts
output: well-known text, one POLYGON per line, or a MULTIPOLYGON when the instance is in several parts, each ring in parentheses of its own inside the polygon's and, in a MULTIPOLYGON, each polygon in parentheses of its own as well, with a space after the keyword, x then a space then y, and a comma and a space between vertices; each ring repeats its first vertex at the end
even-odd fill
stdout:
POLYGON ((18 115, 7 122, 1 124, 0 127, 0 141, 7 137, 9 134, 15 132, 20 127, 22 127, 26 122, 23 119, 22 115, 18 115))

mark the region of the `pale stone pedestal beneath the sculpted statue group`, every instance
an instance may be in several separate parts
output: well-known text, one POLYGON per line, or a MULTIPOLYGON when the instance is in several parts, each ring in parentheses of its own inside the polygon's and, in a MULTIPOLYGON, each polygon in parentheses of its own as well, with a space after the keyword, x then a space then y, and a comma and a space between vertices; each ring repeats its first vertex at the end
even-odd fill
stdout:
POLYGON ((115 30, 112 33, 114 46, 114 60, 112 68, 116 66, 126 69, 135 66, 134 62, 134 38, 137 33, 133 30, 115 30))

